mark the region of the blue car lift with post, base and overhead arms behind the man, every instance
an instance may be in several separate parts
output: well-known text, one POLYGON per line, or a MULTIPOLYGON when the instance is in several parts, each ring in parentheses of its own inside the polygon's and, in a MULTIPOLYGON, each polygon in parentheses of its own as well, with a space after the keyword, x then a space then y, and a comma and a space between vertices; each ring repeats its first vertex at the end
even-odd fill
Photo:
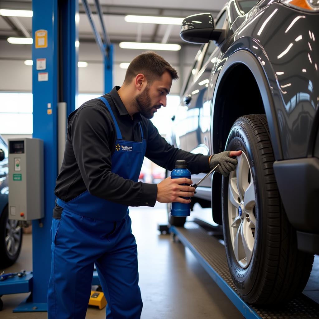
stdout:
MULTIPOLYGON (((94 0, 102 26, 104 43, 95 26, 91 7, 87 0, 82 5, 87 13, 96 42, 104 60, 104 92, 112 89, 113 47, 110 44, 102 19, 99 0, 94 0)), ((33 271, 26 275, 0 281, 0 297, 11 293, 28 293, 29 297, 13 312, 47 311, 48 282, 51 268, 52 211, 55 203, 54 187, 60 165, 58 133, 65 132, 67 116, 75 110, 78 95, 78 1, 33 0, 32 1, 32 92, 33 92, 33 137, 44 142, 44 218, 32 221, 33 271), (39 38, 41 37, 41 39, 39 38), (45 69, 39 71, 37 59, 45 59, 45 69), (62 102, 62 103, 61 103, 62 102), (66 104, 58 123, 60 104, 66 104), (58 127, 59 124, 59 127, 58 127), (61 126, 60 126, 61 125, 61 126), (64 130, 63 130, 64 126, 64 130)), ((99 285, 94 273, 92 285, 99 285)), ((2 301, 0 299, 0 310, 2 301)))

